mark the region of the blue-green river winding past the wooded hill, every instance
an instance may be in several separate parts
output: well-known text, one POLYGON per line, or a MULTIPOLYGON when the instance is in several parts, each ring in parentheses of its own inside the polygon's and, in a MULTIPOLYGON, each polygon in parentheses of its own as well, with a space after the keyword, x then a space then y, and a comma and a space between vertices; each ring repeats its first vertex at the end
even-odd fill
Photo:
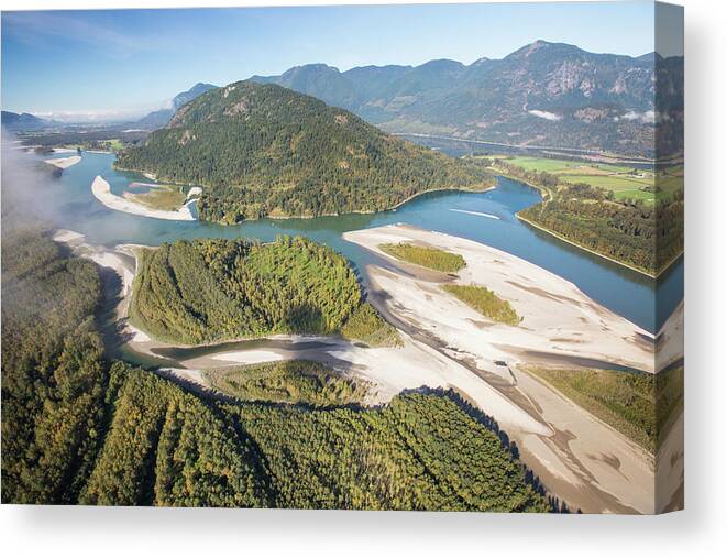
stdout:
POLYGON ((375 256, 344 241, 341 234, 404 222, 483 242, 528 260, 571 281, 595 300, 649 331, 664 321, 683 296, 683 260, 657 282, 533 230, 521 223, 515 214, 537 204, 539 194, 507 178, 499 178, 498 187, 489 192, 427 194, 397 210, 379 214, 261 219, 223 227, 198 221, 165 221, 106 208, 91 194, 96 175, 103 176, 115 194, 121 194, 131 182, 148 182, 135 173, 114 171, 112 163, 113 155, 84 153, 80 163, 54 180, 57 195, 52 196, 49 203, 57 206, 58 227, 82 232, 90 242, 106 245, 126 242, 158 245, 195 237, 247 237, 268 241, 277 234, 302 234, 330 245, 363 269, 375 256), (498 219, 451 209, 484 212, 498 219))

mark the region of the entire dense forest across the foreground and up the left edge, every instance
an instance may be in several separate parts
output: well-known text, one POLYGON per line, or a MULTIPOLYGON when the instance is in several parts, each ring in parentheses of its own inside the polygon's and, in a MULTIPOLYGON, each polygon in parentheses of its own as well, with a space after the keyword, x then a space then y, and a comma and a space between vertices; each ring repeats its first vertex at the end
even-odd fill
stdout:
POLYGON ((368 409, 224 403, 108 362, 93 264, 38 233, 3 236, 2 284, 3 502, 554 507, 507 435, 451 392, 368 409))

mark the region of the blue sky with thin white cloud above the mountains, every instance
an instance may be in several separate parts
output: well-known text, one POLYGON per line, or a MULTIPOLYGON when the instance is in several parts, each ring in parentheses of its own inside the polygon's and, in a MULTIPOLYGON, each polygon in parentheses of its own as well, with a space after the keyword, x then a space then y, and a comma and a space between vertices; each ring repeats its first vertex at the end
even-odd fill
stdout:
POLYGON ((653 18, 648 1, 2 12, 2 108, 131 118, 197 81, 310 63, 471 64, 538 39, 639 56, 654 50, 653 18))

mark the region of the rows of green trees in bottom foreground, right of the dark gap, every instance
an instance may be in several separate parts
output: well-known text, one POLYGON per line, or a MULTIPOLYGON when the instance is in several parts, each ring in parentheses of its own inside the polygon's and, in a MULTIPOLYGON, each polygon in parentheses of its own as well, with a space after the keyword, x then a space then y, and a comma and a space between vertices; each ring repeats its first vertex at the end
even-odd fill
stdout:
POLYGON ((213 403, 123 365, 110 384, 115 412, 82 503, 549 508, 500 437, 449 396, 309 411, 213 403))

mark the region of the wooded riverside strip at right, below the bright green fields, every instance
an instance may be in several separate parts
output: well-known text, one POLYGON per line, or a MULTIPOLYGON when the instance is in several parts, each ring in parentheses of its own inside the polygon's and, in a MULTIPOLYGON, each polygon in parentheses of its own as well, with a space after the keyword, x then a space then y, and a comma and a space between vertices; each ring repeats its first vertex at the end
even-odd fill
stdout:
POLYGON ((612 192, 587 184, 559 184, 544 172, 497 162, 515 178, 543 192, 543 201, 518 215, 585 249, 659 275, 684 251, 684 192, 671 200, 615 200, 612 192))

